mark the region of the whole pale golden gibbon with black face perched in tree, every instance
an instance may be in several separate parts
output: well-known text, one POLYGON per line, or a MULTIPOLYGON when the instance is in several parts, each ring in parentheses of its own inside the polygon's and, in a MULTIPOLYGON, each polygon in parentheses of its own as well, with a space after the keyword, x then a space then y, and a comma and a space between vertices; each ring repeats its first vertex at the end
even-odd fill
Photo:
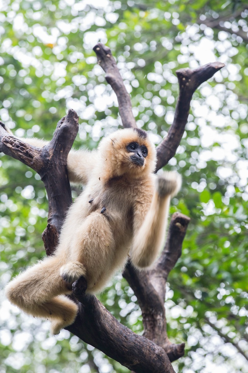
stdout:
POLYGON ((77 304, 65 297, 75 280, 84 276, 87 292, 97 293, 129 255, 133 266, 151 266, 164 241, 170 199, 181 186, 175 172, 155 175, 155 164, 155 147, 141 129, 120 129, 96 151, 71 150, 69 179, 85 188, 68 210, 54 255, 6 286, 10 302, 50 319, 57 334, 77 315, 77 304))

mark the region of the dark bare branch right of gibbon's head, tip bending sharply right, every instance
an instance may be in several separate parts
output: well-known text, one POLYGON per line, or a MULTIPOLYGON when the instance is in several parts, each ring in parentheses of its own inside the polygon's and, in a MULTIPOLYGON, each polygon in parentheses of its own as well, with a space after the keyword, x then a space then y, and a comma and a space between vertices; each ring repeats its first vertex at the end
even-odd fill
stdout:
POLYGON ((167 137, 157 147, 157 170, 161 169, 174 156, 180 144, 187 123, 190 110, 190 101, 197 87, 214 73, 225 66, 220 62, 208 63, 197 69, 189 68, 177 70, 180 94, 177 100, 173 123, 167 137))

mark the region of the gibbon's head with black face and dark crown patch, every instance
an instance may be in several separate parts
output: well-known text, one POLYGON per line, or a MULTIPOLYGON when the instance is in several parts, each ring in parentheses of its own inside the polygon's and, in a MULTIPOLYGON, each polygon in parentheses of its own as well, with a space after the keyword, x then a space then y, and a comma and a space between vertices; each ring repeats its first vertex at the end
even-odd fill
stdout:
POLYGON ((99 151, 113 176, 151 173, 156 166, 156 150, 143 129, 119 129, 104 138, 99 151), (112 171, 112 172, 111 172, 112 171))

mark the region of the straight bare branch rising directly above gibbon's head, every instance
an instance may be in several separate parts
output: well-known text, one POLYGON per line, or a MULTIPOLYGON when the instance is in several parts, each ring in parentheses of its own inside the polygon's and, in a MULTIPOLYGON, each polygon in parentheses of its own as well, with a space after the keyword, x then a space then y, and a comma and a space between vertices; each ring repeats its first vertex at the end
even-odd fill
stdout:
POLYGON ((119 103, 119 113, 124 128, 136 128, 136 121, 132 113, 132 105, 128 92, 126 91, 119 69, 109 47, 98 43, 93 50, 96 53, 99 65, 106 72, 106 81, 111 85, 119 103))

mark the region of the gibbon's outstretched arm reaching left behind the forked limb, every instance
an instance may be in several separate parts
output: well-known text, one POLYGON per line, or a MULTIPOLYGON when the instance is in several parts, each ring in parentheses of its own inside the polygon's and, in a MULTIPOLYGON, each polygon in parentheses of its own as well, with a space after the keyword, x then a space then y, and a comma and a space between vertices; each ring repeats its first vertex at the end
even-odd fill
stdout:
MULTIPOLYGON (((9 134, 13 135, 9 128, 5 126, 5 129, 9 134)), ((48 141, 38 138, 22 137, 19 139, 37 148, 43 148, 44 145, 48 144, 48 141)), ((87 184, 90 173, 96 164, 97 151, 71 150, 67 157, 67 171, 70 182, 73 184, 87 184)))

